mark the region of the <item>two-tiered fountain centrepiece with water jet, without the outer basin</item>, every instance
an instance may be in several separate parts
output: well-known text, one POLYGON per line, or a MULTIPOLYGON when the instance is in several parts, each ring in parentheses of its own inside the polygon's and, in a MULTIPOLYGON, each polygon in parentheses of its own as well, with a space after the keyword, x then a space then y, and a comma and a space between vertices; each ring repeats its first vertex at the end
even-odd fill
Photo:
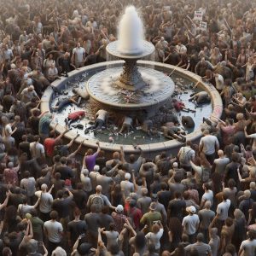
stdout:
POLYGON ((90 101, 99 108, 134 117, 143 110, 154 116, 172 96, 172 79, 157 70, 137 67, 137 61, 151 55, 154 45, 143 40, 143 22, 133 6, 125 9, 119 24, 119 40, 108 44, 107 51, 125 63, 97 73, 87 84, 90 101))

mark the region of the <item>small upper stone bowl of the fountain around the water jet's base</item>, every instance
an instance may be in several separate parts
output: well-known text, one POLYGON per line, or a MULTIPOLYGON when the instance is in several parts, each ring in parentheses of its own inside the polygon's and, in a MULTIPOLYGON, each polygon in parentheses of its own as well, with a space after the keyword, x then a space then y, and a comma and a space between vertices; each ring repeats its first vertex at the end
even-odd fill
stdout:
POLYGON ((148 55, 152 55, 154 53, 154 44, 143 40, 143 49, 138 53, 124 53, 121 52, 118 48, 119 40, 113 41, 109 43, 106 47, 106 50, 110 55, 118 57, 119 59, 126 60, 139 60, 147 57, 148 55))

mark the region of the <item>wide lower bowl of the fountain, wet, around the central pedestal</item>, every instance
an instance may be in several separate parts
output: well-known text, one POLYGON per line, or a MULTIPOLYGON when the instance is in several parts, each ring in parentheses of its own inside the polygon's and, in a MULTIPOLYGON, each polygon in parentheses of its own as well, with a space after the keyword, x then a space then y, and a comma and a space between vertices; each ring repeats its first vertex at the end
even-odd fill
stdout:
POLYGON ((122 67, 108 68, 92 76, 86 89, 90 100, 99 108, 118 111, 118 113, 136 116, 143 110, 148 117, 154 115, 172 96, 175 84, 165 73, 147 67, 138 67, 143 89, 133 91, 120 88, 119 81, 122 67))

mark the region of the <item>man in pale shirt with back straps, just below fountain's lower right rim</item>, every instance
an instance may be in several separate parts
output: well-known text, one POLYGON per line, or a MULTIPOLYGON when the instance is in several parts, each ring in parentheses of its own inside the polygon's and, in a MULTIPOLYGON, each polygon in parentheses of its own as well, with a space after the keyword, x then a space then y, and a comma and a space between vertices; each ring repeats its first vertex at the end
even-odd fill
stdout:
POLYGON ((179 160, 180 167, 187 172, 192 171, 189 160, 195 161, 195 150, 191 148, 191 141, 186 142, 186 146, 179 149, 177 159, 179 160))

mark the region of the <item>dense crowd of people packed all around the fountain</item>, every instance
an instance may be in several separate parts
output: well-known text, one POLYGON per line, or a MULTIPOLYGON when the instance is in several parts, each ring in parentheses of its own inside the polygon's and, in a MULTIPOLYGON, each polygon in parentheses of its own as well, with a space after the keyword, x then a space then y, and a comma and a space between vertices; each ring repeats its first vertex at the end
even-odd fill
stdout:
MULTIPOLYGON (((0 254, 256 255, 256 6, 251 0, 0 2, 0 254), (156 61, 213 84, 221 119, 152 159, 73 148, 45 88, 106 61, 133 4, 156 61), (253 5, 254 4, 254 5, 253 5), (205 30, 194 19, 200 10, 205 30)), ((84 115, 84 113, 82 114, 84 115)), ((102 124, 102 123, 101 123, 102 124)), ((175 137, 174 137, 175 139, 175 137)))

